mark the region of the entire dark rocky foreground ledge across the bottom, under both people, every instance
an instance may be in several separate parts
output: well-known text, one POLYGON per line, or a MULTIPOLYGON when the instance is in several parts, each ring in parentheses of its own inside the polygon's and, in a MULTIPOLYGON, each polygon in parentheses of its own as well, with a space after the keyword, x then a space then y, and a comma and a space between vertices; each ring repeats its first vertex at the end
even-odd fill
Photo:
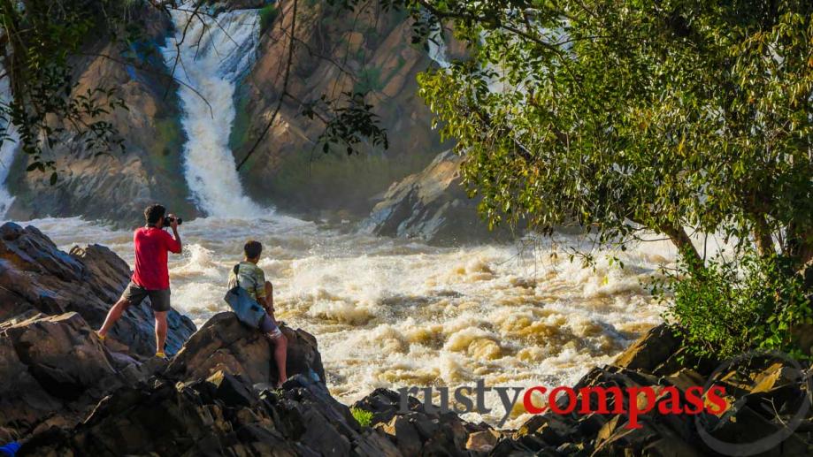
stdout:
MULTIPOLYGON (((33 227, 6 224, 0 237, 0 446, 19 441, 19 455, 721 455, 693 415, 646 415, 630 430, 625 415, 548 413, 494 430, 415 399, 401 413, 386 389, 354 405, 372 413, 362 425, 327 391, 307 332, 283 327, 294 376, 279 390, 269 343, 231 313, 197 331, 173 314, 170 362, 146 357, 152 327, 143 305, 103 345, 92 329, 124 288, 127 264, 100 246, 59 251, 33 227)), ((656 327, 575 388, 674 386, 685 396, 719 363, 684 352, 656 327)), ((714 419, 711 436, 728 443, 785 430, 804 401, 798 372, 768 359, 714 380, 732 408, 714 419)), ((813 454, 811 433, 808 412, 761 455, 813 454)))

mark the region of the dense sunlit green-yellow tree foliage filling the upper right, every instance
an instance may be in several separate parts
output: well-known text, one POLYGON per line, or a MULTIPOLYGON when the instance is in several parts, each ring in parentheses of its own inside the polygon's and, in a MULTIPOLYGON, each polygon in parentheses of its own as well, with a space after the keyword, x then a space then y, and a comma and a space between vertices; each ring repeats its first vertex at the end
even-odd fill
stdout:
POLYGON ((813 3, 422 4, 418 38, 445 19, 469 46, 419 82, 492 225, 813 256, 813 3))

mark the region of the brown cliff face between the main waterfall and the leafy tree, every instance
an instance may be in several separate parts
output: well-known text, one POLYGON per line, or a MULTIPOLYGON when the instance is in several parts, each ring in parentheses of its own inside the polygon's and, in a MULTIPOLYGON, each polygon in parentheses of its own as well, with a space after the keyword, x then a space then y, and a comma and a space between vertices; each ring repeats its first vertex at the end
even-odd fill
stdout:
MULTIPOLYGON (((241 160, 254 144, 282 96, 293 2, 266 7, 257 63, 237 95, 238 116, 231 136, 241 160), (272 10, 272 8, 275 8, 272 10)), ((426 52, 410 45, 410 19, 397 11, 359 14, 326 2, 299 2, 295 51, 288 92, 277 120, 245 165, 249 193, 283 209, 318 214, 347 209, 364 215, 368 199, 396 179, 418 171, 441 150, 430 128, 431 114, 417 96, 418 72, 430 65, 426 52), (324 154, 317 148, 324 124, 304 117, 303 103, 321 95, 371 91, 390 148, 324 154)))

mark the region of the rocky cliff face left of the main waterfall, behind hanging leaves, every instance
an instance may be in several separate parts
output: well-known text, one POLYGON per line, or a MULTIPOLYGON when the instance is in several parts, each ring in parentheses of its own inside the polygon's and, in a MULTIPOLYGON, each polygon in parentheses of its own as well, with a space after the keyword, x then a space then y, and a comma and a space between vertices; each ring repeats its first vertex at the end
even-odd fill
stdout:
POLYGON ((124 138, 126 153, 96 156, 65 133, 44 155, 56 162, 60 174, 53 187, 50 173, 26 172, 28 158, 18 154, 7 182, 16 196, 8 217, 83 216, 132 225, 141 223, 143 209, 157 201, 195 214, 180 168, 183 133, 176 85, 157 52, 172 25, 146 4, 136 2, 131 8, 146 31, 142 42, 123 50, 110 36, 99 36, 73 62, 74 95, 88 88, 117 88, 127 103, 128 110, 106 117, 124 138), (136 64, 127 64, 127 57, 136 57, 136 64))

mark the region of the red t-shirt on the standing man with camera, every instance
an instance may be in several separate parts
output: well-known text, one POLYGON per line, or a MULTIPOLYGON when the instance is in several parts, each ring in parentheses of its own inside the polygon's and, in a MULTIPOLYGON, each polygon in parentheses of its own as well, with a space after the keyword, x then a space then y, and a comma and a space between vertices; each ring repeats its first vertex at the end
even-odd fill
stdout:
POLYGON ((166 253, 180 254, 180 243, 172 235, 155 227, 142 227, 133 234, 135 271, 133 282, 147 290, 169 288, 166 253))

